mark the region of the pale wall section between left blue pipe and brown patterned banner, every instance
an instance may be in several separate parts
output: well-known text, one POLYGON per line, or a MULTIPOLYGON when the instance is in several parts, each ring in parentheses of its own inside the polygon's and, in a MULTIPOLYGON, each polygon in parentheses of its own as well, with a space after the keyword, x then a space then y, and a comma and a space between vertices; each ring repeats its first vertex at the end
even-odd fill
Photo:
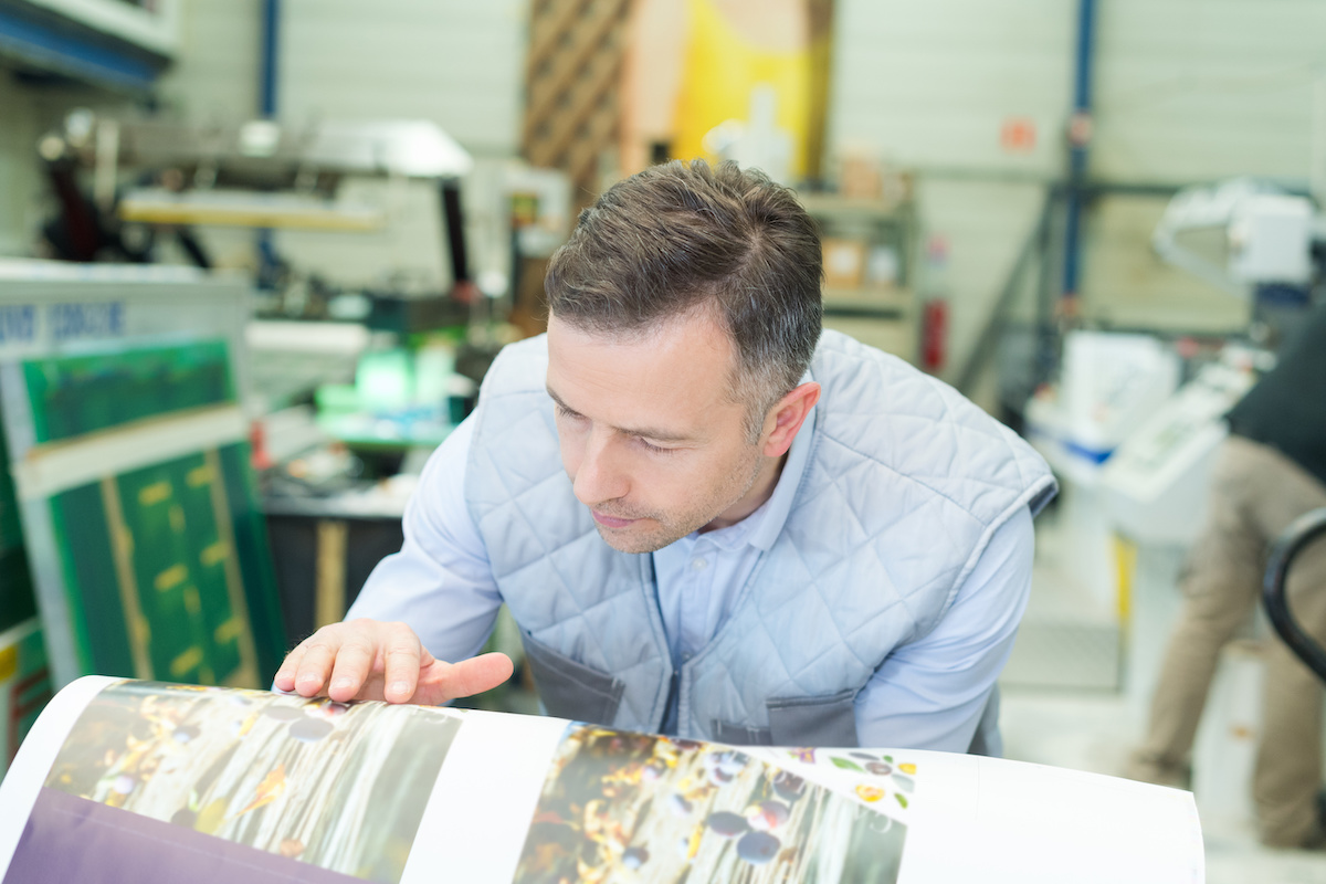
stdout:
POLYGON ((426 118, 477 154, 517 150, 526 0, 286 0, 282 118, 426 118))

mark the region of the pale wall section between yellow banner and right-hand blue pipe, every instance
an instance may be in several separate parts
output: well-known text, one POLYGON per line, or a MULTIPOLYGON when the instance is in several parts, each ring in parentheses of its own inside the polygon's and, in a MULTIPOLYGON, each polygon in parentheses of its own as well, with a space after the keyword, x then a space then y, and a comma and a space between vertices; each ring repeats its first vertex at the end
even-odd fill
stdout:
POLYGON ((1066 0, 839 0, 829 143, 915 168, 1050 172, 1061 163, 1075 4, 1066 0), (1037 126, 1000 147, 1009 117, 1037 126))

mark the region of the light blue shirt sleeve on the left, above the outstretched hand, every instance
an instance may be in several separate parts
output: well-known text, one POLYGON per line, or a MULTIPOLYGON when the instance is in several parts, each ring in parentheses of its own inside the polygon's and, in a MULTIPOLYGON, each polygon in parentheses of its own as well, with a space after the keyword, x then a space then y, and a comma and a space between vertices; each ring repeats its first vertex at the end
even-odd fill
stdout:
POLYGON ((346 619, 400 620, 439 660, 483 648, 501 607, 488 553, 465 505, 472 417, 438 447, 406 506, 404 543, 382 559, 346 619))

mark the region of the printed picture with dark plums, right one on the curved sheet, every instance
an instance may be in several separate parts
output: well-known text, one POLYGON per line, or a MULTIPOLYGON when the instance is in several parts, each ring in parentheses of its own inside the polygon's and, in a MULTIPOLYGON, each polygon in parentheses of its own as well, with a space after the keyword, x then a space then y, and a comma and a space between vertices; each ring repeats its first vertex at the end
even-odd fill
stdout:
POLYGON ((740 749, 573 725, 514 881, 888 883, 906 832, 740 749))

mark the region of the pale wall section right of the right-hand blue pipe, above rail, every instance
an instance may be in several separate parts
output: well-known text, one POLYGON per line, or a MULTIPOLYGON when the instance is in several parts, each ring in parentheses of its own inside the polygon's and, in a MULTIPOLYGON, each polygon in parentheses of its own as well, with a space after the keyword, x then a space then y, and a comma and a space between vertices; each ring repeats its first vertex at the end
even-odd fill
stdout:
MULTIPOLYGON (((1075 4, 1065 4, 1075 5, 1075 4)), ((1091 170, 1114 180, 1306 178, 1321 0, 1098 3, 1091 170)))

